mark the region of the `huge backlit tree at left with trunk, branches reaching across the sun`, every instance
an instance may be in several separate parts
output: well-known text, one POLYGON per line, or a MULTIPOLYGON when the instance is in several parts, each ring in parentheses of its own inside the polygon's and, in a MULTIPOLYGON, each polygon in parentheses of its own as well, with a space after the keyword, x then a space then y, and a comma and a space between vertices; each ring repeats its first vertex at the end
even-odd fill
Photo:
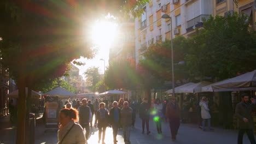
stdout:
MULTIPOLYGON (((90 31, 85 20, 97 16, 96 12, 106 15, 109 11, 120 13, 121 9, 134 14, 140 11, 128 10, 127 4, 131 1, 104 2, 0 1, 1 63, 8 68, 19 88, 16 143, 25 143, 25 118, 30 111, 31 89, 39 89, 42 83, 62 76, 73 59, 94 56, 90 40, 85 39, 90 31), (91 8, 95 11, 90 11, 91 8), (25 87, 29 90, 27 98, 25 87)), ((135 5, 144 2, 138 1, 135 5)))

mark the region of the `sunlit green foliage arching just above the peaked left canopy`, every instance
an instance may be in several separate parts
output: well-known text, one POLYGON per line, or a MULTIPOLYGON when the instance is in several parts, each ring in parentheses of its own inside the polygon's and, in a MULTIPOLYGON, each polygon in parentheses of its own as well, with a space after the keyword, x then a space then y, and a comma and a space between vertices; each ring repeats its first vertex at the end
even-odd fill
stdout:
POLYGON ((69 92, 77 93, 74 87, 72 87, 68 82, 61 79, 60 77, 54 79, 53 81, 51 81, 51 83, 44 85, 43 88, 39 89, 39 91, 41 91, 42 93, 46 93, 53 90, 56 87, 62 87, 67 89, 67 91, 69 92))

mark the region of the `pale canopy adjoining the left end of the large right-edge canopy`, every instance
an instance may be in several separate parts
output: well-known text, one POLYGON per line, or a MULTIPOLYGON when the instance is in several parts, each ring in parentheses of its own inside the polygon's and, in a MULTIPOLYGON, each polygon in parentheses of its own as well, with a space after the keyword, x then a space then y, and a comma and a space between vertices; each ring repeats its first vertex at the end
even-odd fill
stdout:
POLYGON ((207 81, 202 81, 199 83, 194 83, 192 85, 189 85, 187 87, 183 87, 181 89, 179 89, 179 92, 181 93, 200 93, 202 92, 202 87, 210 85, 211 82, 207 82, 207 81))

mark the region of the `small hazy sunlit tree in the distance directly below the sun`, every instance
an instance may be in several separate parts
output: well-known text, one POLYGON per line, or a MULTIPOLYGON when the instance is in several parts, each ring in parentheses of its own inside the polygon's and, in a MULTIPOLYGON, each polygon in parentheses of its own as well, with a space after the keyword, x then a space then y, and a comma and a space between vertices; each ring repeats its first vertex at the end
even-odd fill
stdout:
POLYGON ((96 67, 90 67, 85 72, 84 75, 86 77, 86 82, 89 83, 89 85, 92 88, 92 91, 95 91, 95 85, 101 80, 101 75, 98 73, 98 68, 96 67))

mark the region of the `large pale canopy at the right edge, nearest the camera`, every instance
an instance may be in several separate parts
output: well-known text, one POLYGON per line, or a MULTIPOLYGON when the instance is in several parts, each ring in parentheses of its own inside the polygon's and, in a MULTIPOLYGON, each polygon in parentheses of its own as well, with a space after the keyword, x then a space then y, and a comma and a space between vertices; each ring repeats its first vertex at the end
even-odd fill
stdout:
POLYGON ((212 85, 212 89, 214 92, 231 91, 232 89, 240 89, 240 91, 249 91, 255 89, 255 87, 256 70, 212 85))

